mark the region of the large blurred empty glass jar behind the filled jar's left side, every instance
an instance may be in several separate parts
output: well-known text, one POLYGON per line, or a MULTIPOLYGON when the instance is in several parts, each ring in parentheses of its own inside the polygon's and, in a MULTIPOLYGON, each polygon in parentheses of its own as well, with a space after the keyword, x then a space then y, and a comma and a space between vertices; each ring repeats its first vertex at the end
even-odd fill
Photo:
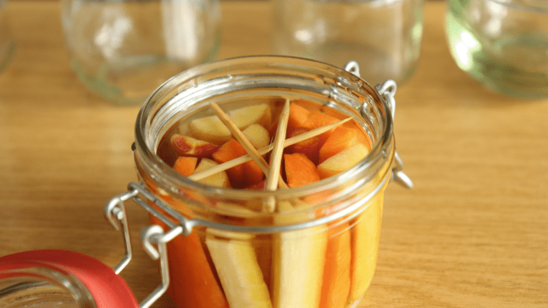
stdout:
POLYGON ((76 75, 124 105, 211 61, 219 46, 218 0, 61 0, 61 18, 76 75))

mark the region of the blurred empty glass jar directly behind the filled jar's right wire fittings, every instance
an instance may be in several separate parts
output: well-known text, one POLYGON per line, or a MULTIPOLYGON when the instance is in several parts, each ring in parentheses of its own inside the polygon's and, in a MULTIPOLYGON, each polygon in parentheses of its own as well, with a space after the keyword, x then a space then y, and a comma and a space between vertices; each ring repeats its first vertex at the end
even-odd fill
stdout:
POLYGON ((275 54, 342 67, 371 84, 405 82, 417 66, 423 0, 274 0, 275 54), (364 69, 366 68, 366 69, 364 69))

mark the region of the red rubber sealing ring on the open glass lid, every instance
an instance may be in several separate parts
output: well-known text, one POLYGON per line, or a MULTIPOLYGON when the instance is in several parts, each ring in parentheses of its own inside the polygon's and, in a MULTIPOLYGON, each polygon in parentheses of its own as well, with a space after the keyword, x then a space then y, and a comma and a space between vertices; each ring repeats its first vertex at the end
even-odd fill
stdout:
POLYGON ((75 276, 93 296, 97 308, 138 308, 124 279, 101 261, 66 250, 33 250, 0 257, 0 270, 23 268, 29 263, 59 268, 75 276))

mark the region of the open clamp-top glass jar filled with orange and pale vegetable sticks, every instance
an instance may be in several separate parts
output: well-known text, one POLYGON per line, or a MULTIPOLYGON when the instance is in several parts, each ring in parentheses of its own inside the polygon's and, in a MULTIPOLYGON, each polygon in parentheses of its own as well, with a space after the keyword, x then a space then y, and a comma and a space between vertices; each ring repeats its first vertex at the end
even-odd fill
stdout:
POLYGON ((395 84, 358 76, 355 63, 253 56, 192 68, 150 95, 135 125, 141 183, 106 212, 133 198, 163 227, 155 238, 167 242, 177 305, 343 308, 363 298, 385 187, 412 184, 394 148, 395 84), (226 169, 236 157, 244 163, 226 169))

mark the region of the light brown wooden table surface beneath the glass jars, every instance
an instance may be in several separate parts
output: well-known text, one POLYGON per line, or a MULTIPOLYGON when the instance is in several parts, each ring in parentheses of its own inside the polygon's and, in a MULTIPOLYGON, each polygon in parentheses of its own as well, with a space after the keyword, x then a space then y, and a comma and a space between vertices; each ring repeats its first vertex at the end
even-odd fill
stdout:
MULTIPOLYGON (((427 2, 420 66, 399 87, 395 133, 406 190, 386 191, 376 276, 360 307, 548 307, 548 100, 490 93, 452 61, 446 3, 427 2)), ((219 59, 268 54, 271 3, 222 3, 219 59)), ((15 56, 0 73, 0 255, 70 249, 114 266, 103 219, 135 180, 138 106, 87 91, 68 64, 56 1, 8 3, 15 56)), ((159 283, 138 245, 121 273, 142 300, 159 283)), ((154 307, 175 307, 167 296, 154 307)))

